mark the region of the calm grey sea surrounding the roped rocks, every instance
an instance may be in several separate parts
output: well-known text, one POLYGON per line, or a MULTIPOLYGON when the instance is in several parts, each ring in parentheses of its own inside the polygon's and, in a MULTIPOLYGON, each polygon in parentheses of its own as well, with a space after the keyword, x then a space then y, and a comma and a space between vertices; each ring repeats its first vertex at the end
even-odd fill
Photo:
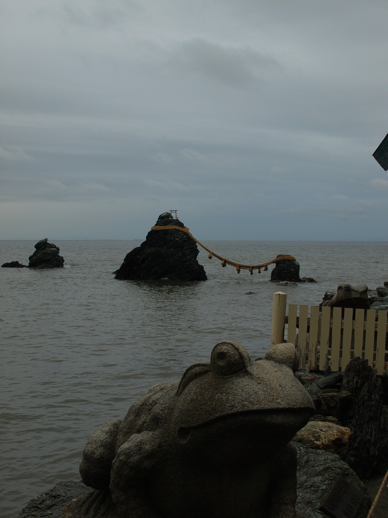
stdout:
MULTIPOLYGON (((36 241, 0 241, 0 264, 28 264, 36 241)), ((65 268, 0 269, 2 518, 59 480, 79 480, 92 432, 123 417, 153 384, 208 361, 218 341, 263 355, 275 291, 289 303, 318 304, 339 282, 375 288, 388 280, 386 242, 204 243, 245 264, 291 254, 301 276, 318 281, 288 286, 268 282, 272 266, 238 275, 202 249, 206 282, 119 281, 112 271, 140 241, 54 242, 65 268)))

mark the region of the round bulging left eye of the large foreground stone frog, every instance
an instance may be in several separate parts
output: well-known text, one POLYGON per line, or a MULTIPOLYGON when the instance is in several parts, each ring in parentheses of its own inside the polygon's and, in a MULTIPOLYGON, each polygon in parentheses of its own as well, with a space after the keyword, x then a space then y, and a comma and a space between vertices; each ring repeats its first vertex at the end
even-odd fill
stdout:
POLYGON ((218 376, 232 376, 246 369, 252 361, 239 343, 219 342, 212 351, 210 363, 218 376))

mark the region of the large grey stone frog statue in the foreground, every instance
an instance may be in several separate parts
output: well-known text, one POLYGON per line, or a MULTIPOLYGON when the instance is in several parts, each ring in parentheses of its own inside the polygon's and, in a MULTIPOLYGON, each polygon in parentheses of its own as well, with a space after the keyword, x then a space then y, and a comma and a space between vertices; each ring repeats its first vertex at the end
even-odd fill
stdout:
POLYGON ((240 344, 217 343, 210 363, 152 387, 92 435, 80 473, 95 491, 69 502, 64 516, 296 516, 289 441, 315 413, 296 366, 291 343, 254 362, 240 344))

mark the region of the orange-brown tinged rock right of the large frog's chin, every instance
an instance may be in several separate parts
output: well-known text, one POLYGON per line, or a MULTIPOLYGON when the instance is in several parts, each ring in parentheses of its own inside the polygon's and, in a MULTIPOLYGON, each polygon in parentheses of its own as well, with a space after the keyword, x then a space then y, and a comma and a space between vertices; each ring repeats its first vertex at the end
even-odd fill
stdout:
POLYGON ((334 423, 310 421, 297 431, 293 442, 300 442, 306 448, 324 450, 343 457, 348 451, 351 431, 334 423))

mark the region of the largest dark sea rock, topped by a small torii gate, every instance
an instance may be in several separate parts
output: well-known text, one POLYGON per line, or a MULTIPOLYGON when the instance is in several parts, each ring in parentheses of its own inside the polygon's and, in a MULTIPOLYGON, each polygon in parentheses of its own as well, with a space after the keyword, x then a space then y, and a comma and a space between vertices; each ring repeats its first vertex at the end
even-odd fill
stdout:
MULTIPOLYGON (((155 226, 185 225, 170 212, 160 214, 155 226)), ((131 250, 115 279, 205 281, 206 273, 197 261, 199 250, 190 236, 175 228, 151 230, 140 247, 131 250)))

